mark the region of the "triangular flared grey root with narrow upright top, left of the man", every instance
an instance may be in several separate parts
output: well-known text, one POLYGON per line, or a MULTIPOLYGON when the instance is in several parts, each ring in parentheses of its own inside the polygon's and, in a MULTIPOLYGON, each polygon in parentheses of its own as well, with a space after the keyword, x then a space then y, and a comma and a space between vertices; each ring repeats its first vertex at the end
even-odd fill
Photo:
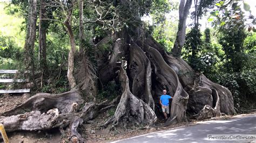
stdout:
POLYGON ((106 127, 111 122, 113 125, 116 125, 118 124, 120 118, 125 116, 130 118, 133 117, 134 121, 136 122, 152 125, 157 120, 156 114, 149 105, 131 93, 129 79, 123 66, 124 61, 122 61, 122 66, 120 67, 119 72, 119 79, 122 85, 123 94, 113 117, 107 120, 103 126, 106 127))

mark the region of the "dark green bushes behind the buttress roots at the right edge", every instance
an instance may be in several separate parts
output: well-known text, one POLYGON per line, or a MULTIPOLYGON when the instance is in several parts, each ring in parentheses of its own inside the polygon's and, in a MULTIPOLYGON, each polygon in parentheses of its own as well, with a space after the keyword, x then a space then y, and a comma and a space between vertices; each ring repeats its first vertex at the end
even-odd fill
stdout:
POLYGON ((214 82, 227 87, 240 108, 246 101, 255 100, 256 62, 255 37, 243 28, 218 32, 219 44, 212 44, 217 63, 205 74, 214 82), (236 30, 236 31, 235 31, 236 30))

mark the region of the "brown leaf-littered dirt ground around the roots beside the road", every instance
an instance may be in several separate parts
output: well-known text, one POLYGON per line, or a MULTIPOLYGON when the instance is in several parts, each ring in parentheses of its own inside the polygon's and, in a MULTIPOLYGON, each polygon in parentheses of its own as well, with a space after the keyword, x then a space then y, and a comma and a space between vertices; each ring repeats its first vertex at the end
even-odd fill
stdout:
MULTIPOLYGON (((0 113, 10 110, 11 108, 21 104, 23 101, 28 99, 29 94, 23 95, 0 95, 0 113)), ((146 134, 150 132, 156 132, 160 130, 167 130, 169 128, 185 126, 195 124, 196 120, 190 120, 187 124, 177 124, 174 126, 163 127, 164 121, 158 120, 156 126, 151 128, 137 128, 136 130, 124 129, 124 128, 114 128, 114 130, 109 130, 109 128, 102 129, 100 125, 111 117, 114 108, 100 114, 96 119, 87 122, 82 128, 80 128, 80 133, 83 135, 86 142, 110 142, 114 140, 125 139, 129 137, 134 137, 136 135, 146 134), (90 123, 90 124, 89 124, 90 123)), ((220 118, 212 118, 208 120, 220 119, 225 120, 231 118, 231 116, 225 116, 220 118)), ((60 132, 55 129, 51 131, 18 131, 7 133, 10 142, 70 142, 68 139, 62 138, 60 132)), ((3 142, 0 135, 0 142, 3 142)))

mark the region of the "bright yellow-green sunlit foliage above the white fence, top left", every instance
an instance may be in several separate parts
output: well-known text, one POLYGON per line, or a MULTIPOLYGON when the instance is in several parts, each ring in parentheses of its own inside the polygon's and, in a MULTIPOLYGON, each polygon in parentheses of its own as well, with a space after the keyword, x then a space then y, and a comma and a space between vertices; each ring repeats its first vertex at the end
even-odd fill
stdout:
POLYGON ((0 3, 0 69, 17 69, 22 66, 24 31, 18 6, 0 3))

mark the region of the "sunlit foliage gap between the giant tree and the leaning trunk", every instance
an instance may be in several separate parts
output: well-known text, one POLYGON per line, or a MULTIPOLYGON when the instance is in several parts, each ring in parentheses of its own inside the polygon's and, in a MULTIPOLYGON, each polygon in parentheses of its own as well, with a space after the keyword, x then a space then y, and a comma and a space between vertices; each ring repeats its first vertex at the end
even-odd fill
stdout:
POLYGON ((178 17, 172 15, 172 12, 177 10, 178 2, 153 1, 151 11, 148 13, 152 18, 152 23, 147 23, 150 33, 168 53, 172 50, 178 31, 178 17))

